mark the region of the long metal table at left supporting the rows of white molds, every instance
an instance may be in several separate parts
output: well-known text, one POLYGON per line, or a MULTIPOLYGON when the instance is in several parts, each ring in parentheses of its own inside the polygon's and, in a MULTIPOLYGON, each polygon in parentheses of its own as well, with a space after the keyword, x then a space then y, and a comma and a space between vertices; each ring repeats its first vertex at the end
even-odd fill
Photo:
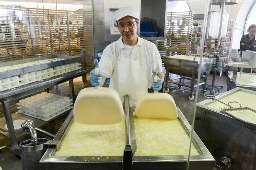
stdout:
MULTIPOLYGON (((13 122, 12 122, 13 118, 12 118, 12 114, 11 114, 11 110, 10 110, 10 106, 9 106, 10 100, 19 99, 19 98, 27 96, 29 94, 33 94, 35 92, 42 91, 44 89, 48 90, 48 92, 49 92, 50 87, 52 87, 54 85, 58 85, 62 82, 69 81, 70 97, 73 99, 73 102, 75 102, 74 101, 75 94, 74 94, 73 79, 76 77, 83 76, 87 72, 88 72, 88 69, 79 69, 79 70, 64 74, 62 76, 60 75, 60 76, 52 77, 50 79, 45 79, 44 81, 34 82, 34 83, 27 84, 27 85, 23 85, 19 88, 0 92, 0 102, 3 105, 5 120, 6 120, 6 124, 8 127, 8 131, 1 128, 0 135, 9 137, 9 139, 11 140, 12 146, 10 146, 9 149, 14 150, 15 153, 19 154, 20 153, 19 149, 18 149, 19 146, 18 146, 16 137, 19 137, 19 136, 22 136, 22 134, 25 134, 20 131, 17 131, 17 133, 15 133, 13 122)), ((35 122, 38 123, 38 124, 35 123, 35 126, 41 126, 41 125, 44 125, 45 123, 47 123, 42 120, 34 119, 32 117, 22 115, 22 114, 13 114, 13 116, 18 119, 22 119, 21 117, 24 117, 26 119, 29 118, 29 119, 35 120, 35 122)), ((2 119, 4 119, 4 118, 2 118, 2 119)), ((0 119, 0 122, 3 122, 2 119, 0 119)))

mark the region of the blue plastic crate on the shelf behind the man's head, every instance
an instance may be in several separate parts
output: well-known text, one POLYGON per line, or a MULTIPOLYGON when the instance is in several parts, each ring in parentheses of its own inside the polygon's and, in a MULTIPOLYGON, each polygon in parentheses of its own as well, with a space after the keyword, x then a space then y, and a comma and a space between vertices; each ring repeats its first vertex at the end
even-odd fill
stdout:
POLYGON ((140 22, 140 37, 157 37, 158 31, 151 22, 140 22))

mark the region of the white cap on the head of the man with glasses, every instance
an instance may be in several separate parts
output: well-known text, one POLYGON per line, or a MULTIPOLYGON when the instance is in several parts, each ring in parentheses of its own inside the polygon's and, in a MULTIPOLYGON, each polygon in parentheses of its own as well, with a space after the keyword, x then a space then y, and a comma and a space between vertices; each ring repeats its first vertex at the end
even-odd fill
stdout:
POLYGON ((138 11, 134 9, 132 6, 121 7, 119 8, 119 10, 116 11, 115 21, 118 21, 126 16, 131 16, 137 19, 139 17, 139 14, 138 11))

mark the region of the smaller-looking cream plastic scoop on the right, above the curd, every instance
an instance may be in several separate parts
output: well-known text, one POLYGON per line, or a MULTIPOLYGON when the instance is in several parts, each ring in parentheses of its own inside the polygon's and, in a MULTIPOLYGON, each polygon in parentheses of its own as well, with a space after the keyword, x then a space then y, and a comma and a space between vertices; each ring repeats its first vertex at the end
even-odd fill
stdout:
POLYGON ((140 96, 135 116, 153 119, 177 119, 174 99, 166 93, 146 93, 140 96))

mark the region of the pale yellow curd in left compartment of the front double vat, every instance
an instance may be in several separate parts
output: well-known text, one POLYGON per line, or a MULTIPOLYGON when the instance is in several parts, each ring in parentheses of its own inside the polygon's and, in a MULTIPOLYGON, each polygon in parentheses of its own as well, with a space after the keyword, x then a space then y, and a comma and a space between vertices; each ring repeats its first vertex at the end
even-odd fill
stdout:
POLYGON ((55 156, 123 156, 125 119, 113 125, 82 125, 75 121, 55 156))

